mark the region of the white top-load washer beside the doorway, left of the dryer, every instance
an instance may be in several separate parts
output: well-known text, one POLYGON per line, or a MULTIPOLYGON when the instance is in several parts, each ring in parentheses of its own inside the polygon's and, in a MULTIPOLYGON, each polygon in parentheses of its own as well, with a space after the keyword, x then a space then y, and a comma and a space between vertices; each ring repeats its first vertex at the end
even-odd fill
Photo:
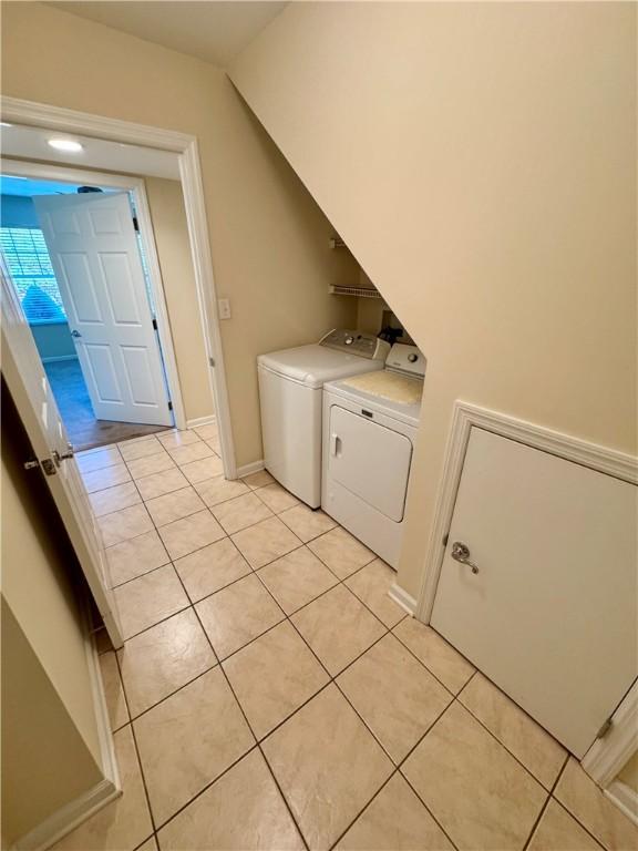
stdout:
POLYGON ((311 509, 321 501, 323 385, 382 370, 389 350, 372 334, 335 329, 318 344, 257 358, 265 466, 311 509))

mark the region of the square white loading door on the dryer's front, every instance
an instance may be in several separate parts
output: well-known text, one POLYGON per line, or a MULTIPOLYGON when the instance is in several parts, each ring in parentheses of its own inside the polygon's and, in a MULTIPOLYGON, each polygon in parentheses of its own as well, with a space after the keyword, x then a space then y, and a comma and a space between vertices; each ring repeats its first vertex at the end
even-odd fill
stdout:
POLYGON ((397 523, 403 519, 411 458, 404 434, 330 408, 330 476, 397 523))

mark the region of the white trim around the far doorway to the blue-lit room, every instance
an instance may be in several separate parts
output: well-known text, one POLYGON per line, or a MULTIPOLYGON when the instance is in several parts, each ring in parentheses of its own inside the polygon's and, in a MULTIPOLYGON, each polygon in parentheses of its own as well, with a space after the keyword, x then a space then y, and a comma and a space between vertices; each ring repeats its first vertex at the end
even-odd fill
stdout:
MULTIPOLYGON (((160 348, 164 370, 166 372, 168 397, 173 402, 175 427, 177 429, 185 429, 186 413, 184 411, 179 375, 177 372, 177 360, 175 358, 175 346, 171 332, 171 325, 168 322, 164 281, 160 268, 160 258, 157 255, 155 233, 153 229, 153 222, 151 221, 151 209, 148 207, 144 178, 126 177, 125 175, 112 174, 110 172, 100 172, 91 167, 73 168, 72 166, 59 165, 56 163, 33 163, 29 160, 13 160, 11 157, 3 158, 2 171, 3 173, 19 174, 23 177, 33 177, 41 181, 51 180, 59 183, 95 183, 100 186, 130 192, 133 195, 135 212, 140 222, 140 235, 142 237, 144 254, 148 266, 153 300, 155 301, 160 348)), ((168 401, 168 399, 166 401, 168 401)))

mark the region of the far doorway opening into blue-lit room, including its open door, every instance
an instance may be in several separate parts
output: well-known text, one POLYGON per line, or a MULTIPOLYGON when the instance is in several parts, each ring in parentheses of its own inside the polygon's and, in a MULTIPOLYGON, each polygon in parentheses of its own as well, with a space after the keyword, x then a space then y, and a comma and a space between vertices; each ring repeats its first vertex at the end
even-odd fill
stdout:
POLYGON ((0 250, 75 450, 175 424, 133 193, 0 178, 0 250))

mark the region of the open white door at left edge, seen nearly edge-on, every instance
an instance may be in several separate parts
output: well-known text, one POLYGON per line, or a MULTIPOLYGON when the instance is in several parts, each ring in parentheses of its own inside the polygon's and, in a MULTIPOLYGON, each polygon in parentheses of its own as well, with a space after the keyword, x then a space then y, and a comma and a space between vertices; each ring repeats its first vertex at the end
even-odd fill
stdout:
MULTIPOLYGON (((104 548, 80 471, 33 337, 3 265, 2 375, 40 461, 44 479, 78 555, 115 648, 122 647, 120 618, 104 548)), ((25 461, 28 459, 24 459, 25 461)))

